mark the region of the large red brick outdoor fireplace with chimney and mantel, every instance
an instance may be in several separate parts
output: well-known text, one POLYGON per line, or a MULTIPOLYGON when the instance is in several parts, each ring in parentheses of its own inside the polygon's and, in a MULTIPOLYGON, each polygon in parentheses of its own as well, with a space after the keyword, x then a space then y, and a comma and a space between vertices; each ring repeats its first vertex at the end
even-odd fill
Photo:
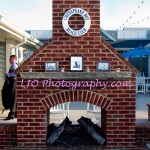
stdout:
MULTIPOLYGON (((80 15, 69 19, 70 28, 84 26, 80 15), (81 21, 80 21, 81 20, 81 21), (76 26, 77 25, 77 26, 76 26)), ((100 36, 99 0, 53 0, 53 38, 26 60, 17 70, 17 144, 46 145, 48 110, 64 102, 88 102, 102 109, 102 130, 107 146, 131 146, 135 143, 135 73, 129 64, 100 36), (82 36, 68 35, 62 18, 71 8, 88 12, 91 25, 82 36), (83 56, 83 71, 70 71, 70 56, 83 56), (96 71, 96 62, 110 62, 108 72, 96 71), (58 71, 45 72, 45 62, 58 62, 58 71), (29 72, 32 68, 32 72, 29 72), (65 72, 60 70, 64 68, 65 72), (90 68, 90 72, 87 72, 90 68), (120 72, 116 72, 120 68, 120 72), (106 88, 49 86, 57 82, 108 82, 106 88), (44 84, 44 86, 43 86, 44 84)))

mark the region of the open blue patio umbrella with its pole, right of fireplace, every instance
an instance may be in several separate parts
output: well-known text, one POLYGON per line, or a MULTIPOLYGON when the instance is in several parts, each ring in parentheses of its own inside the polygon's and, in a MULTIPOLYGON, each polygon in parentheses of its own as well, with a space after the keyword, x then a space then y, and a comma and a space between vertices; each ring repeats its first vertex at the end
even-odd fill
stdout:
POLYGON ((150 55, 150 49, 140 46, 138 48, 134 48, 127 52, 123 52, 123 53, 121 53, 121 55, 125 58, 140 57, 140 71, 142 72, 142 57, 150 55))

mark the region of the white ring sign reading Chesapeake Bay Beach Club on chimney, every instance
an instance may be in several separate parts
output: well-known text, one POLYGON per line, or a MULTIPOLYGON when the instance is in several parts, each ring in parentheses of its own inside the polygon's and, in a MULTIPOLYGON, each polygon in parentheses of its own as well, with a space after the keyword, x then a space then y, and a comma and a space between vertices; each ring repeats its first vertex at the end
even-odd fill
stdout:
POLYGON ((66 33, 71 36, 78 37, 84 35, 89 30, 91 25, 91 19, 89 14, 85 10, 81 8, 72 8, 64 14, 62 19, 62 25, 66 33), (74 14, 81 15, 84 18, 84 26, 80 30, 73 30, 68 24, 69 18, 74 14))

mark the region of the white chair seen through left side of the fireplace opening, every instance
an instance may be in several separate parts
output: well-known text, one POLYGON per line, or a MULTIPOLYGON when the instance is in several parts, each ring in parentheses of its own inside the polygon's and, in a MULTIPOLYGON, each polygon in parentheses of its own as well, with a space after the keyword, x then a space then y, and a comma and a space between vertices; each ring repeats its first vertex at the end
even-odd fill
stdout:
POLYGON ((50 108, 50 121, 62 122, 66 117, 69 118, 69 103, 58 104, 50 108))

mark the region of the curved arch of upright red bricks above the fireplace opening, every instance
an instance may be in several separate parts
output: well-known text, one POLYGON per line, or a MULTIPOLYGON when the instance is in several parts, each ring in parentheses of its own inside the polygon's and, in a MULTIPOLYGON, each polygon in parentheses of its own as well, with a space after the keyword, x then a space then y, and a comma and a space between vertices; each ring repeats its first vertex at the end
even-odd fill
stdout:
POLYGON ((65 90, 49 94, 40 101, 45 110, 57 104, 66 102, 77 102, 77 101, 91 103, 107 110, 112 102, 110 98, 107 98, 102 94, 88 90, 76 90, 76 91, 65 90))

